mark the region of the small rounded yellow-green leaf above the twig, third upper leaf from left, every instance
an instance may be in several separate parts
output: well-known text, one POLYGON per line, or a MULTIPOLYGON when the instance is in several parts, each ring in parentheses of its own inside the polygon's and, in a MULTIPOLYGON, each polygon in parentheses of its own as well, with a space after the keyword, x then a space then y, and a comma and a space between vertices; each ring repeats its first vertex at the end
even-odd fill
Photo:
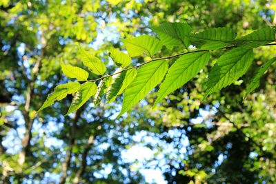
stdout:
POLYGON ((109 51, 109 56, 115 62, 115 64, 119 67, 127 67, 131 63, 131 58, 128 54, 121 52, 119 49, 112 49, 109 51))

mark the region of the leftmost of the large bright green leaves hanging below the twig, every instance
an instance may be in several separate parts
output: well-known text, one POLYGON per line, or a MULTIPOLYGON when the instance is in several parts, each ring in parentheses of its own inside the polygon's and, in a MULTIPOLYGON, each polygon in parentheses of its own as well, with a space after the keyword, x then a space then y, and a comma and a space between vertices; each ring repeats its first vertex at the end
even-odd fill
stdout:
POLYGON ((165 60, 153 61, 141 66, 134 81, 126 88, 119 116, 130 110, 135 103, 155 88, 162 81, 167 70, 168 63, 165 60))

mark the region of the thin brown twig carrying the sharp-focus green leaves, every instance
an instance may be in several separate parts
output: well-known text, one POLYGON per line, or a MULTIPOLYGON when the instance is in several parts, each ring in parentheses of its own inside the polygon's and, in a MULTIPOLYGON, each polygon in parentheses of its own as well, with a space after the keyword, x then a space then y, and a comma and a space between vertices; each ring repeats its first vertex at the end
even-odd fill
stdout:
MULTIPOLYGON (((268 46, 268 45, 276 45, 276 43, 268 43, 268 44, 262 45, 262 46, 268 46)), ((237 45, 228 45, 228 46, 226 46, 226 47, 224 47, 224 48, 221 48, 221 49, 235 48, 235 47, 237 47, 237 45)), ((105 76, 101 76, 101 77, 99 77, 98 79, 92 79, 92 80, 88 80, 88 81, 92 81, 92 82, 100 81, 101 79, 105 79, 105 78, 108 78, 108 77, 110 77, 110 76, 117 75, 117 74, 119 74, 119 73, 121 73, 121 72, 124 72, 124 71, 126 71, 126 70, 130 70, 130 69, 132 69, 132 68, 139 68, 140 66, 146 65, 146 64, 151 63, 151 62, 153 62, 153 61, 159 61, 159 60, 162 60, 162 59, 172 59, 172 58, 174 58, 174 57, 183 56, 183 55, 185 55, 185 54, 189 54, 189 53, 193 53, 193 52, 204 52, 204 51, 212 51, 212 50, 208 50, 208 49, 204 49, 204 50, 192 50, 192 51, 188 51, 188 52, 182 52, 182 53, 179 53, 179 54, 175 54, 175 55, 172 55, 172 56, 169 56, 169 57, 160 57, 160 58, 152 59, 152 60, 150 60, 150 61, 148 61, 148 62, 145 62, 145 63, 141 63, 140 65, 132 66, 132 67, 130 67, 130 68, 125 68, 125 69, 120 70, 119 72, 116 72, 116 73, 114 73, 114 74, 108 74, 108 75, 105 75, 105 76)))

